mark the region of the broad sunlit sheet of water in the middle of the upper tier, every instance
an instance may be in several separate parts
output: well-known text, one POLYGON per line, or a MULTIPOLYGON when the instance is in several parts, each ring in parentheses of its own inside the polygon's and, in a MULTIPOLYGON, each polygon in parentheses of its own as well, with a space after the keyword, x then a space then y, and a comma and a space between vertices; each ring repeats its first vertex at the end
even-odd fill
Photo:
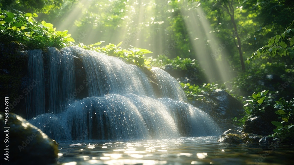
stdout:
POLYGON ((103 96, 108 93, 133 93, 154 97, 153 88, 145 73, 135 65, 122 60, 79 47, 69 47, 81 57, 85 67, 89 96, 103 96))

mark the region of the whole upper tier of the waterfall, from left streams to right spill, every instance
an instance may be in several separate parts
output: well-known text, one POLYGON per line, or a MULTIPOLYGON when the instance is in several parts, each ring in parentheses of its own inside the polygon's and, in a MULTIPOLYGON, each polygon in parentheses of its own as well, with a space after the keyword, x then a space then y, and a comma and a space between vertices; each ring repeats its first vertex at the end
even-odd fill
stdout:
POLYGON ((157 81, 153 89, 150 78, 139 67, 80 47, 30 50, 28 66, 28 84, 38 82, 27 96, 28 119, 43 113, 61 113, 77 99, 109 93, 187 100, 178 82, 164 70, 152 69, 157 81))

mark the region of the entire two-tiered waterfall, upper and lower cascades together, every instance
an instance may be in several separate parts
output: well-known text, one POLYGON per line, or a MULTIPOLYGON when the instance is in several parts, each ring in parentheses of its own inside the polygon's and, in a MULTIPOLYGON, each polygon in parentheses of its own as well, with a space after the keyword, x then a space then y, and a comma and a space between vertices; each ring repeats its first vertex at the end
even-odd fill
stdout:
POLYGON ((187 99, 179 83, 159 68, 151 70, 157 82, 153 89, 139 67, 116 57, 79 47, 60 51, 49 48, 47 54, 48 73, 44 74, 42 52, 28 52, 29 77, 43 81, 34 94, 28 95, 27 110, 28 118, 40 115, 30 121, 51 138, 121 140, 220 134, 210 116, 185 103, 187 99), (80 68, 74 58, 80 61, 80 68), (85 75, 84 80, 76 80, 77 70, 85 75), (49 76, 49 82, 44 82, 44 75, 49 76), (49 92, 44 96, 46 86, 49 92), (46 107, 45 97, 49 103, 46 107), (36 100, 40 102, 35 105, 36 100))

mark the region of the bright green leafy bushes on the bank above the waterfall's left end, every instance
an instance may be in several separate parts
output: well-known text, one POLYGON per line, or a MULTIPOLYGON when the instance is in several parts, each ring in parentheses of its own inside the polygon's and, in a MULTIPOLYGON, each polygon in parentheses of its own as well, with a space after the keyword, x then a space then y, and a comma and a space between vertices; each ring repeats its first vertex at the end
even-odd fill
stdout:
POLYGON ((28 49, 44 47, 62 48, 73 45, 74 39, 65 31, 56 31, 53 24, 36 22, 36 13, 23 13, 17 10, 2 10, 0 16, 0 40, 18 41, 28 49))

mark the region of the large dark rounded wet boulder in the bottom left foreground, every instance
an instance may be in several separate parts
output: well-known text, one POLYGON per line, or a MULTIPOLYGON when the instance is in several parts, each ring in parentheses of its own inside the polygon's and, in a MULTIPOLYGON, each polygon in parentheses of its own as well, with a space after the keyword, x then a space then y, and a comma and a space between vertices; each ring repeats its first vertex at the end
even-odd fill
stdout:
MULTIPOLYGON (((9 113, 8 125, 0 113, 1 132, 7 131, 9 164, 52 164, 56 162, 58 146, 40 129, 21 116, 9 113), (4 128, 9 126, 10 128, 4 128)), ((2 159, 4 160, 4 158, 2 159)), ((4 160, 6 161, 6 160, 4 160)), ((7 161, 8 162, 8 161, 7 161)), ((5 163, 5 162, 4 162, 5 163)))

